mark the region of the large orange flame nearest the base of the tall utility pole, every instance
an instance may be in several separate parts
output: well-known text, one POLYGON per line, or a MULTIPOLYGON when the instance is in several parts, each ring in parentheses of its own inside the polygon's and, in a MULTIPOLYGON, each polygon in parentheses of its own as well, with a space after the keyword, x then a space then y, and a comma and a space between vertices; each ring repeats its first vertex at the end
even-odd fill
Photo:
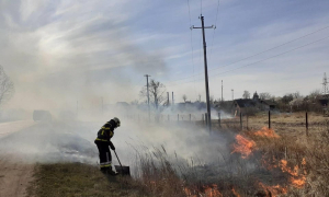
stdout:
POLYGON ((252 150, 256 148, 256 142, 252 140, 248 140, 247 138, 242 137, 241 135, 236 136, 236 143, 234 143, 234 152, 241 153, 241 158, 248 158, 252 150))

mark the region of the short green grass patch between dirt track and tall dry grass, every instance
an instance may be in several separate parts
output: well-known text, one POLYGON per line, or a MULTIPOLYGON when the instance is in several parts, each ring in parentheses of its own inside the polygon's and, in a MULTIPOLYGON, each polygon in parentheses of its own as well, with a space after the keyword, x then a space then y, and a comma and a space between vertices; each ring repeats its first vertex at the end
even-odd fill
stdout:
POLYGON ((34 182, 27 188, 34 197, 150 196, 138 182, 107 176, 97 166, 81 163, 37 164, 34 182))

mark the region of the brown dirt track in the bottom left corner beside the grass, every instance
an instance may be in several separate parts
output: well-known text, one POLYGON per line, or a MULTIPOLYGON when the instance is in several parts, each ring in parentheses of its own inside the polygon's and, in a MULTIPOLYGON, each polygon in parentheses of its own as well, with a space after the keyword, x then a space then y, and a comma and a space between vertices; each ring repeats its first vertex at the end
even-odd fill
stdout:
POLYGON ((0 155, 0 196, 24 197, 33 179, 34 164, 24 164, 9 154, 0 155))

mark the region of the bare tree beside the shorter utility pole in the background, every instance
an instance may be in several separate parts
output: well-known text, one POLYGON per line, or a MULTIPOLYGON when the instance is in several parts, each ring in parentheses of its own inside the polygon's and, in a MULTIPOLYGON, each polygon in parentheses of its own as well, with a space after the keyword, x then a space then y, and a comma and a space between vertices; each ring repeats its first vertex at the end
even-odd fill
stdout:
MULTIPOLYGON (((164 93, 166 86, 159 81, 150 80, 148 85, 150 103, 158 109, 159 105, 164 105, 167 102, 164 93)), ((147 100, 147 88, 144 86, 139 95, 147 100)))

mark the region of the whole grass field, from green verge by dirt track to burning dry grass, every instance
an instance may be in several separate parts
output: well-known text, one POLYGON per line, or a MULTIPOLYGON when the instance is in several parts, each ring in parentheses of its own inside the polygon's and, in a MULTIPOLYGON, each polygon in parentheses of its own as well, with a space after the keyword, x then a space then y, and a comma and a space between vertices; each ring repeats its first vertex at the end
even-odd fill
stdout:
POLYGON ((219 165, 180 165, 163 147, 140 154, 135 178, 79 163, 38 164, 29 196, 329 196, 329 121, 309 114, 306 136, 304 120, 303 113, 273 115, 273 130, 263 128, 266 115, 249 117, 243 130, 224 120, 218 132, 232 132, 236 143, 219 165))

